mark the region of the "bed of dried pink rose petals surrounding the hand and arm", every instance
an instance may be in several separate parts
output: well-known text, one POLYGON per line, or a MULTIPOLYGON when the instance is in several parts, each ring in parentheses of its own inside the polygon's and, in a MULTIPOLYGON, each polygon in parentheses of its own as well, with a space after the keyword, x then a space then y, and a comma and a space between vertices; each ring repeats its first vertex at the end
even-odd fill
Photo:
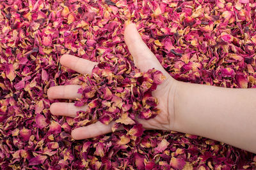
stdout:
POLYGON ((255 154, 177 132, 74 141, 74 120, 51 115, 47 89, 80 77, 61 55, 130 62, 127 20, 177 80, 255 88, 253 0, 0 0, 1 169, 255 169, 255 154))

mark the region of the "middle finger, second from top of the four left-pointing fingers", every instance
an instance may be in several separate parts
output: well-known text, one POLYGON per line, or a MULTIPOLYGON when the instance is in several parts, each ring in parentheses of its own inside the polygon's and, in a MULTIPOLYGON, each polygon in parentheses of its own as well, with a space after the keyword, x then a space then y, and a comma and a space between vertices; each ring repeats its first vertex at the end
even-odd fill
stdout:
POLYGON ((77 91, 80 89, 80 85, 60 85, 50 87, 47 90, 47 96, 49 99, 76 99, 81 98, 81 94, 77 91))

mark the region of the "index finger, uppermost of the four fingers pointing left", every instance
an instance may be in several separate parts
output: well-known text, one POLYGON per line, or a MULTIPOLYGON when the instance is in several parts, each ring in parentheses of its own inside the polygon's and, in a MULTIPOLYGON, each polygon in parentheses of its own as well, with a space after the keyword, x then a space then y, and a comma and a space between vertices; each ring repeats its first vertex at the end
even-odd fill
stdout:
POLYGON ((68 67, 81 74, 91 74, 93 67, 97 65, 97 62, 92 62, 90 60, 82 59, 74 55, 68 54, 61 56, 60 63, 63 66, 68 67))

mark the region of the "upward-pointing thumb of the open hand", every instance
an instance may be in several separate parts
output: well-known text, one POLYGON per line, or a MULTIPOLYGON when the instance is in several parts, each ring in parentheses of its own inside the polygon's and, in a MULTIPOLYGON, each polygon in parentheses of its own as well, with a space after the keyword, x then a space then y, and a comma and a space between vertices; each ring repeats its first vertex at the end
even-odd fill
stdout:
POLYGON ((141 39, 135 24, 129 24, 125 27, 124 39, 136 66, 141 71, 148 71, 148 69, 155 68, 161 71, 164 76, 170 76, 161 66, 154 53, 149 50, 143 39, 141 39))

